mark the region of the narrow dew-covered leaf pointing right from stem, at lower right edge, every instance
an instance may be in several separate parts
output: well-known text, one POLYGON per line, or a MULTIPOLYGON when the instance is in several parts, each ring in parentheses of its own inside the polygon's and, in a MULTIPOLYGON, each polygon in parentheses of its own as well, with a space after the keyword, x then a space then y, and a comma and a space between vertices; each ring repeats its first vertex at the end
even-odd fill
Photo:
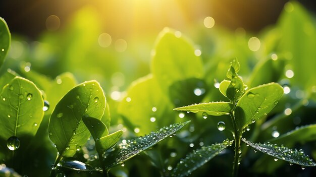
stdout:
POLYGON ((265 154, 288 161, 292 164, 295 163, 302 166, 316 166, 316 163, 313 162, 308 155, 305 155, 303 150, 293 150, 284 146, 278 146, 277 144, 253 143, 251 141, 247 141, 245 138, 242 138, 242 141, 265 154))

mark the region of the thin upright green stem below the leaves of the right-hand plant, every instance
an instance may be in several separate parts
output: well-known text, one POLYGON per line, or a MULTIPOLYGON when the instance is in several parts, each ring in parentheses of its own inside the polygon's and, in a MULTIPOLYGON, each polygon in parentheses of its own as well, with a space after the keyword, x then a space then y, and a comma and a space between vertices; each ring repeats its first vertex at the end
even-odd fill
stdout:
POLYGON ((233 127, 234 127, 235 156, 234 156, 233 176, 236 177, 238 176, 238 168, 239 168, 239 163, 241 160, 241 147, 240 147, 241 132, 237 128, 234 113, 231 112, 230 116, 231 116, 233 127))

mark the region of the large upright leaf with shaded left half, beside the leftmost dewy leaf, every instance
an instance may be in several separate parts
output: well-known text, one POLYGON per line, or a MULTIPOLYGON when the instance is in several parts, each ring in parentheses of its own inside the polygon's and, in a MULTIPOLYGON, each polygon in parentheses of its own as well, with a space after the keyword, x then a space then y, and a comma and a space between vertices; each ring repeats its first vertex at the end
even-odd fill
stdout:
POLYGON ((101 119, 105 107, 106 97, 96 81, 79 84, 58 102, 50 115, 48 135, 60 155, 71 157, 86 143, 90 133, 82 116, 101 119))

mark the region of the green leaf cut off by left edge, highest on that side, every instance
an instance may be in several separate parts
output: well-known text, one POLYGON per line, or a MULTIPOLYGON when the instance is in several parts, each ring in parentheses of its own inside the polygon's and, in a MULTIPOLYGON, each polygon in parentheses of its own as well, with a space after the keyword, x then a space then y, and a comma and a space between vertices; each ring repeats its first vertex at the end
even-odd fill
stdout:
POLYGON ((11 44, 11 33, 6 21, 0 17, 0 67, 4 63, 11 44))

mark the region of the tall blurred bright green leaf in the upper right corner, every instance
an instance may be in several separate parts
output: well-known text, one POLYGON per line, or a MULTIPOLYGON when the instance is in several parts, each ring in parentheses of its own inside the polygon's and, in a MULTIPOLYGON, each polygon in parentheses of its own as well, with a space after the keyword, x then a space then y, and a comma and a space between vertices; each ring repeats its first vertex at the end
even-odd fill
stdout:
POLYGON ((280 15, 278 28, 280 40, 277 50, 286 53, 290 59, 288 66, 294 72, 291 83, 306 89, 316 85, 316 60, 310 60, 316 56, 313 18, 297 1, 290 1, 280 15))

